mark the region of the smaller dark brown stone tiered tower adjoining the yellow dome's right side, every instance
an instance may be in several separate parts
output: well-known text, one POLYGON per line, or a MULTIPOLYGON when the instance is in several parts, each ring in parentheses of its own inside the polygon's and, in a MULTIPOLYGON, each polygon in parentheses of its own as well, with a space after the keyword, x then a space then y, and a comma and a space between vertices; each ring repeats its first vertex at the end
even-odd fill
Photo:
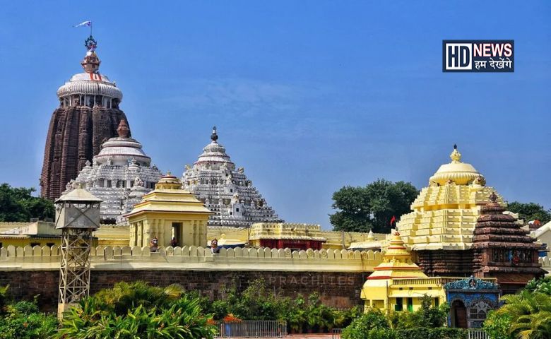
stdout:
POLYGON ((480 210, 473 237, 473 270, 478 278, 497 278, 504 294, 515 293, 545 274, 538 263, 540 245, 516 224, 516 218, 503 214, 505 208, 496 198, 490 196, 491 202, 480 210))

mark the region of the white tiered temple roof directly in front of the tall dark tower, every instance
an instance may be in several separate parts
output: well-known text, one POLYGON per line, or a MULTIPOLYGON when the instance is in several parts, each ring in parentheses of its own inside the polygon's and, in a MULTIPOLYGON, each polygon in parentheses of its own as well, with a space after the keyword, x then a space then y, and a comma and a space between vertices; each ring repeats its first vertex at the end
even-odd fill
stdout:
POLYGON ((73 186, 83 186, 102 199, 103 224, 122 222, 122 215, 129 213, 162 176, 160 170, 151 165, 151 158, 143 152, 141 143, 129 136, 126 120, 120 121, 117 133, 119 136, 103 143, 92 164, 86 161, 78 177, 67 184, 68 191, 73 186))

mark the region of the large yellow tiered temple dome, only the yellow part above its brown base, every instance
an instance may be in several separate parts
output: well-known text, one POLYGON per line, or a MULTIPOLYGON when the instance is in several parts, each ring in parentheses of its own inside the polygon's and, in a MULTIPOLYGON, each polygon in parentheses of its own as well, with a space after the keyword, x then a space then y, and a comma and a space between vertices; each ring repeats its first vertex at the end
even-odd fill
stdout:
POLYGON ((480 207, 491 194, 504 206, 503 198, 473 165, 461 162, 454 145, 451 162, 440 166, 411 204, 412 212, 397 222, 408 249, 469 249, 480 207))

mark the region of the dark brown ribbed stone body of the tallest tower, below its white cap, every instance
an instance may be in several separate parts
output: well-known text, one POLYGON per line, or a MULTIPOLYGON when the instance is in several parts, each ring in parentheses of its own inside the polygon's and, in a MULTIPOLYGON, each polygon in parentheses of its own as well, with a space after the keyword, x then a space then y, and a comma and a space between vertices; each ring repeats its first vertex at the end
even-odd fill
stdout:
POLYGON ((42 196, 59 198, 85 162, 91 162, 100 152, 102 143, 117 136, 121 119, 126 116, 118 108, 73 106, 56 109, 46 138, 40 176, 42 196))

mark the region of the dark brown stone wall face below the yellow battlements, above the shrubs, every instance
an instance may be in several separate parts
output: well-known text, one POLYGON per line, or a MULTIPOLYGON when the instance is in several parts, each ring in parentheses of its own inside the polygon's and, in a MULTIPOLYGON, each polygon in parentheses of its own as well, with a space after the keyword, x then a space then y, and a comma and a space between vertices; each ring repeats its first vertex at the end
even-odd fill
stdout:
MULTIPOLYGON (((119 281, 143 280, 156 286, 177 283, 186 290, 199 290, 211 299, 223 297, 223 287, 235 284, 242 291, 256 279, 263 278, 270 290, 288 297, 319 292, 330 306, 348 308, 362 304, 360 291, 369 273, 267 272, 215 270, 92 270, 91 293, 109 288, 119 281)), ((0 286, 17 299, 40 295, 42 309, 57 309, 59 270, 0 271, 0 286)))

